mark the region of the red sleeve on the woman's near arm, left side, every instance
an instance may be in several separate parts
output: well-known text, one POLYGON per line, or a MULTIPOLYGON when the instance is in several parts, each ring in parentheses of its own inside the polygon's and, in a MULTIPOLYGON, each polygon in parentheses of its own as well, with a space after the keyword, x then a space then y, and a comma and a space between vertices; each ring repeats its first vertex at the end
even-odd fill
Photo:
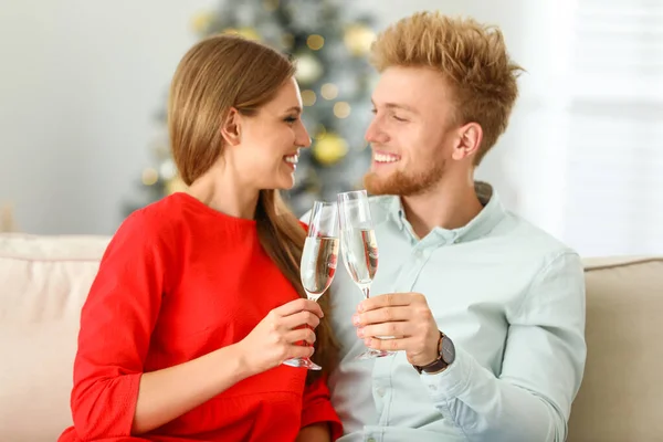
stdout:
POLYGON ((164 291, 164 260, 143 212, 110 240, 81 312, 71 397, 80 439, 128 436, 164 291))

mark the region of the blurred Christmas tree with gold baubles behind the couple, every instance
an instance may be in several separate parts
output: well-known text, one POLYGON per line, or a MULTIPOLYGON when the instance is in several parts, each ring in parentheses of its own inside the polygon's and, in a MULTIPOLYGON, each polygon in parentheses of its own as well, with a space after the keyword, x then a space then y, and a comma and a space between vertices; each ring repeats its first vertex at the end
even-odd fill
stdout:
MULTIPOLYGON (((302 151, 296 185, 284 192, 295 213, 315 199, 334 200, 361 185, 370 162, 364 130, 370 118, 367 55, 375 33, 372 19, 346 0, 223 0, 217 10, 192 20, 200 38, 236 33, 292 55, 305 105, 304 123, 313 137, 302 151)), ((166 126, 166 108, 159 113, 166 126)), ((164 129, 167 133, 167 129, 164 129)), ((140 190, 125 215, 185 187, 176 175, 167 135, 155 144, 156 167, 144 170, 140 190)))

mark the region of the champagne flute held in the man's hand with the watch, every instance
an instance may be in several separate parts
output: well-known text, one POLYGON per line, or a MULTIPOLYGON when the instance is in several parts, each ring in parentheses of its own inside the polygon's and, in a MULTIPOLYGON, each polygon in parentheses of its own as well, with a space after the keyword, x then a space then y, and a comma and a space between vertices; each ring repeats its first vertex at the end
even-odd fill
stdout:
MULTIPOLYGON (((378 243, 370 217, 366 190, 338 194, 341 254, 345 267, 357 284, 364 298, 370 296, 370 285, 378 270, 378 243)), ((376 336, 389 339, 389 336, 376 336)), ((393 351, 368 348, 357 359, 372 359, 392 355, 393 351)))

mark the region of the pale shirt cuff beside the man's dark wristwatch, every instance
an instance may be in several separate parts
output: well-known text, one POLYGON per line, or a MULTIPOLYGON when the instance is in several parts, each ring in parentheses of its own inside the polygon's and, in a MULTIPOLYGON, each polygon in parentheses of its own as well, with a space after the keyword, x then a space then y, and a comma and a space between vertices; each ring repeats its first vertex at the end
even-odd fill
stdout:
POLYGON ((442 402, 459 397, 465 391, 472 379, 473 362, 472 356, 456 347, 455 359, 444 371, 434 375, 422 372, 420 379, 431 399, 434 402, 442 402))

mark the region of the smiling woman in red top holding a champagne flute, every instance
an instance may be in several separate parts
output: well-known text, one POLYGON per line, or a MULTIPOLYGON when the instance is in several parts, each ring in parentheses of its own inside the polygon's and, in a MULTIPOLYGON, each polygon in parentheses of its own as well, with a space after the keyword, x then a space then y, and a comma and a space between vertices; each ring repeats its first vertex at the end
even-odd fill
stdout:
POLYGON ((324 376, 282 365, 314 354, 304 340, 324 369, 336 351, 326 299, 303 297, 306 232, 277 193, 311 144, 294 72, 228 35, 180 62, 168 125, 189 190, 133 213, 108 245, 82 309, 61 442, 340 435, 324 376))

